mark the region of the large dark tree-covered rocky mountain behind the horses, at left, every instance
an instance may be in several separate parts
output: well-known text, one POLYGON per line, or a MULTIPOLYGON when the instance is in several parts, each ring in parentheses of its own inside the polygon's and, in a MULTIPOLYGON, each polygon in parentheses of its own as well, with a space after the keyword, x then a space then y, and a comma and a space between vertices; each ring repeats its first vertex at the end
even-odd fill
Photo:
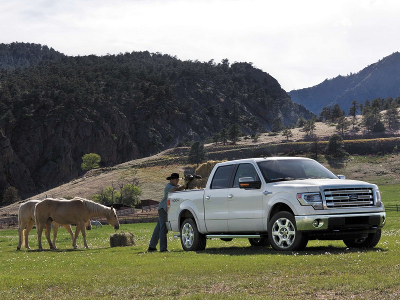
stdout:
POLYGON ((251 63, 0 48, 0 197, 10 185, 26 197, 76 178, 86 153, 111 166, 204 142, 222 128, 254 134, 277 117, 288 125, 311 116, 251 63))

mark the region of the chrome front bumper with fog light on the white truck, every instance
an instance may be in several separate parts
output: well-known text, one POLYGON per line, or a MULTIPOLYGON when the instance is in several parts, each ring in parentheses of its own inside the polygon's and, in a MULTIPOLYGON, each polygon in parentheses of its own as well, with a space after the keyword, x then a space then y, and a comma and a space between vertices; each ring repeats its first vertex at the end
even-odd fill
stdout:
POLYGON ((385 212, 315 214, 294 216, 299 231, 337 231, 381 228, 386 221, 385 212))

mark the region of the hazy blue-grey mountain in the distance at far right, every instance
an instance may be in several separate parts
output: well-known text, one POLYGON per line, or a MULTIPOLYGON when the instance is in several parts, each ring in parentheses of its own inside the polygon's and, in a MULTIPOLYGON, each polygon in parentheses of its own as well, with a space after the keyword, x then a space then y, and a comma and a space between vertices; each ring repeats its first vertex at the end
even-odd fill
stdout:
POLYGON ((319 114, 325 106, 339 104, 346 113, 353 100, 364 103, 375 98, 400 96, 400 53, 394 52, 358 73, 337 76, 307 88, 291 90, 290 98, 319 114))

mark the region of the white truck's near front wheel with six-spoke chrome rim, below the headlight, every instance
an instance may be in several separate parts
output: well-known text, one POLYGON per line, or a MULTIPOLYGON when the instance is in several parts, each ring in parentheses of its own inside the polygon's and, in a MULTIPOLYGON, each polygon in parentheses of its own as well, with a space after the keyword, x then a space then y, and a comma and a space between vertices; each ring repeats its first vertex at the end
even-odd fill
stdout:
POLYGON ((305 248, 307 235, 297 231, 294 215, 288 211, 274 214, 268 224, 268 239, 278 251, 297 251, 305 248))

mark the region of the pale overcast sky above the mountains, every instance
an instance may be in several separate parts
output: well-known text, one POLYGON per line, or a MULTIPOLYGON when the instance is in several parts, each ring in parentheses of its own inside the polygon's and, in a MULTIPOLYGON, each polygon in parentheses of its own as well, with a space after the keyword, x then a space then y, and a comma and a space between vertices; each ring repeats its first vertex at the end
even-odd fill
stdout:
POLYGON ((252 62, 286 91, 400 49, 398 0, 0 0, 0 43, 252 62))

